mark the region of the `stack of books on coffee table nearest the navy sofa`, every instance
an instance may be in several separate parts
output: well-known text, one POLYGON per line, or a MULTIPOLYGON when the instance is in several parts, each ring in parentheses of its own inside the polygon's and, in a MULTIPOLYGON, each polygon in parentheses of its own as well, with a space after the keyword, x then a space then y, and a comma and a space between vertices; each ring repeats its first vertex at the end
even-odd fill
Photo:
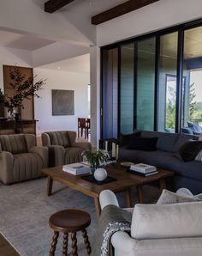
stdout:
POLYGON ((139 174, 145 177, 157 174, 157 168, 146 163, 138 163, 131 165, 130 171, 133 172, 134 174, 139 174))

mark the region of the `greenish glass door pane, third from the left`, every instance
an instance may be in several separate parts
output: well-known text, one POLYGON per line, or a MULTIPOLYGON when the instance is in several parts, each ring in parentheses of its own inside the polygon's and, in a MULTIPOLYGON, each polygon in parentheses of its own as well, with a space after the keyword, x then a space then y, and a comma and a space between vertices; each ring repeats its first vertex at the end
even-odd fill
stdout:
POLYGON ((135 126, 147 131, 154 129, 155 47, 155 38, 137 42, 135 126))

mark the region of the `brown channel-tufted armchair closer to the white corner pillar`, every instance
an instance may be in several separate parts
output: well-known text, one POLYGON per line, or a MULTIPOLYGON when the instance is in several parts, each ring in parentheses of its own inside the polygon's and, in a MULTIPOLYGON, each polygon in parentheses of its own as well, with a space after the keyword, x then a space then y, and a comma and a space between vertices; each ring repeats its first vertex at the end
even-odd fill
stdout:
POLYGON ((76 143, 75 131, 46 131, 42 133, 42 144, 49 148, 49 166, 82 162, 81 153, 91 149, 91 143, 76 143))

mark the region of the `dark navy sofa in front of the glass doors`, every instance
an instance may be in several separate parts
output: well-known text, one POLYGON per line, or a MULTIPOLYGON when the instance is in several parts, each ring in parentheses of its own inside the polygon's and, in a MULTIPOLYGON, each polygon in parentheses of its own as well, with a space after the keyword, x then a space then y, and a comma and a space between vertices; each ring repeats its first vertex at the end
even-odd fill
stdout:
POLYGON ((173 191, 187 187, 193 194, 202 192, 202 162, 183 162, 175 157, 175 152, 187 140, 198 140, 197 136, 159 131, 141 131, 140 137, 157 137, 157 150, 134 150, 127 146, 120 147, 119 158, 128 162, 144 162, 166 168, 175 172, 175 178, 170 182, 169 189, 173 191))

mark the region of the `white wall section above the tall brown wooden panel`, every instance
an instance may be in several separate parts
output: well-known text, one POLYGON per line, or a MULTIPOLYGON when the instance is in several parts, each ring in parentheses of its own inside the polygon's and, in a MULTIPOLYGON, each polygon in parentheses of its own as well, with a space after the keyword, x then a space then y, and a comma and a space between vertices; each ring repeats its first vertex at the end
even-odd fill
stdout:
POLYGON ((3 64, 31 67, 32 53, 0 46, 0 88, 3 88, 3 64))

